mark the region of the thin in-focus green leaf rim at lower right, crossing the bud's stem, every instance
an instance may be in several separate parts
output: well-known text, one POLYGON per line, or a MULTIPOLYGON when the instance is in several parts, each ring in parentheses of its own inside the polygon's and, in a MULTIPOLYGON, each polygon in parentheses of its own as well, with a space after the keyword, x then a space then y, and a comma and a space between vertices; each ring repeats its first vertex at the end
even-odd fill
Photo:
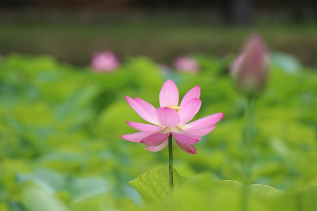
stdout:
POLYGON ((260 197, 274 197, 279 196, 283 192, 277 190, 268 185, 261 185, 261 184, 252 184, 252 185, 244 185, 240 182, 233 181, 233 180, 224 180, 222 181, 227 187, 232 187, 233 189, 236 188, 246 188, 249 192, 253 195, 260 196, 260 197))

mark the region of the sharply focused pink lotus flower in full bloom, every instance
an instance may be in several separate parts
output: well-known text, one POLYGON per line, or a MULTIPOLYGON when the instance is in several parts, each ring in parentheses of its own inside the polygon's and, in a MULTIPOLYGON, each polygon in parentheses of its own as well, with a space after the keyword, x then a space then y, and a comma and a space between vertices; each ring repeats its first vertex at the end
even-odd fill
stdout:
POLYGON ((201 136, 213 131, 215 124, 224 116, 217 113, 188 123, 200 108, 199 96, 200 86, 195 86, 187 92, 178 106, 178 89, 172 80, 167 80, 159 93, 158 109, 138 97, 132 99, 126 96, 132 109, 153 125, 127 121, 129 126, 141 132, 120 137, 146 145, 145 150, 158 152, 168 144, 168 137, 172 134, 183 151, 197 154, 193 145, 200 141, 201 136))

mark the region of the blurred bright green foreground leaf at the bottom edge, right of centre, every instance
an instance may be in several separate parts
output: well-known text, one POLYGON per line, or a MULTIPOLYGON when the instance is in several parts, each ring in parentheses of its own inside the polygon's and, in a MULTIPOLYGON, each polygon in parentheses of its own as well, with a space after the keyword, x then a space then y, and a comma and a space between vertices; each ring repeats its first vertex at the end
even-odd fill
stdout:
MULTIPOLYGON (((199 173, 175 189, 163 203, 149 204, 146 211, 246 211, 245 207, 241 207, 242 187, 235 181, 220 182, 214 173, 199 173)), ((280 211, 271 209, 274 202, 279 202, 279 197, 249 195, 249 211, 280 211)))

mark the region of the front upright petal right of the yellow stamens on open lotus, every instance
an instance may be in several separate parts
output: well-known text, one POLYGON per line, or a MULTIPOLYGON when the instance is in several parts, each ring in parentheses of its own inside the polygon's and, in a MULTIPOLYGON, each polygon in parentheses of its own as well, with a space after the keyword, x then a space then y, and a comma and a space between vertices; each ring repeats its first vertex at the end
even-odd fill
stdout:
POLYGON ((179 124, 185 124, 189 122, 199 111, 201 101, 198 98, 189 100, 179 111, 179 124))

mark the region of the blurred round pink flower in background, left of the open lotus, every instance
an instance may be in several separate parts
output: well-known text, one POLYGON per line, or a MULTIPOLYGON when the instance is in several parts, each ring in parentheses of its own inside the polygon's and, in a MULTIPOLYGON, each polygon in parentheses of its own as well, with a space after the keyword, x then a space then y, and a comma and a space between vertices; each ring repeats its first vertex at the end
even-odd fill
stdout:
POLYGON ((91 66, 97 72, 113 72, 119 67, 119 61, 111 51, 104 51, 93 55, 91 66))

